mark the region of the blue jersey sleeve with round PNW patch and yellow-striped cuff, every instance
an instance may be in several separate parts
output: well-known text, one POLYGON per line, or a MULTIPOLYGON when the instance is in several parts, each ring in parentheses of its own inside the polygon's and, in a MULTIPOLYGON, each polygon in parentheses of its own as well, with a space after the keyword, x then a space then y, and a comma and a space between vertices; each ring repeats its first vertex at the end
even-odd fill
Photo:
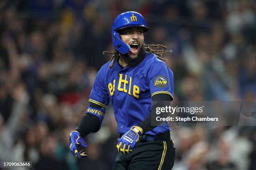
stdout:
POLYGON ((166 93, 174 97, 173 72, 164 62, 154 62, 148 70, 147 80, 151 97, 166 93))

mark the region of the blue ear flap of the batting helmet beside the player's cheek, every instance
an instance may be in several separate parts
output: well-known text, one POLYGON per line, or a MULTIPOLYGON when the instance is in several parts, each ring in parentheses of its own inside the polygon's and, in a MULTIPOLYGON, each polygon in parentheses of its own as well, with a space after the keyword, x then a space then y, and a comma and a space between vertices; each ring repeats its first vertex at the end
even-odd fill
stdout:
POLYGON ((127 54, 131 47, 128 44, 125 44, 122 40, 118 32, 113 31, 112 33, 112 41, 116 50, 118 50, 121 54, 127 54))

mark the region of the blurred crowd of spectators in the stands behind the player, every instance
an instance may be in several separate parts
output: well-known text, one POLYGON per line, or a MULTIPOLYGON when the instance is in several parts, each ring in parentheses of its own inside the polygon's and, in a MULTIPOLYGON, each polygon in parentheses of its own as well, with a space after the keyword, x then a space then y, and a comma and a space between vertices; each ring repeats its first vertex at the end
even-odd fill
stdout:
MULTIPOLYGON (((174 72, 175 100, 256 101, 255 0, 1 0, 0 160, 34 169, 111 170, 117 127, 110 105, 101 130, 74 158, 68 135, 88 106, 113 50, 111 26, 137 11, 146 44, 174 72)), ((255 126, 172 127, 174 170, 256 170, 255 126)))

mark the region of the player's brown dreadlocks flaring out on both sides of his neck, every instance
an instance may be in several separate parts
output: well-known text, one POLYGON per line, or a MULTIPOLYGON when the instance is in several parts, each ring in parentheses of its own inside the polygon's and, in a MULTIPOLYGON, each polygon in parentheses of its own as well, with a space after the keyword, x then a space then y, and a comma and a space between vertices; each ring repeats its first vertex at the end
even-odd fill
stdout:
MULTIPOLYGON (((161 44, 158 44, 158 45, 146 45, 146 44, 144 44, 144 47, 145 47, 146 52, 154 53, 157 58, 159 58, 160 60, 164 60, 164 61, 166 61, 167 59, 162 58, 162 54, 167 53, 167 52, 172 52, 172 50, 164 51, 163 49, 167 49, 167 47, 164 46, 164 45, 161 45, 161 44), (150 47, 161 47, 163 49, 162 50, 153 50, 150 47)), ((105 53, 108 53, 110 55, 112 54, 112 57, 111 57, 110 61, 113 60, 113 63, 109 66, 110 69, 115 65, 115 62, 117 62, 120 59, 120 53, 117 50, 114 50, 113 52, 103 51, 102 53, 104 55, 105 55, 105 53)))

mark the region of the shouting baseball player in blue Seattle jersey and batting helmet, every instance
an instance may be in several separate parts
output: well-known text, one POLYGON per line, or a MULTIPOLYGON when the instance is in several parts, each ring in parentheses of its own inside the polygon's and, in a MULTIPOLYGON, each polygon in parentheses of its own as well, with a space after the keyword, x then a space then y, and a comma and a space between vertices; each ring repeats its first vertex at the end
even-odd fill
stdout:
MULTIPOLYGON (((69 134, 69 148, 77 158, 86 157, 83 138, 100 130, 105 109, 113 103, 120 138, 113 170, 171 170, 175 148, 169 125, 151 126, 153 101, 171 101, 173 72, 162 61, 164 50, 145 45, 149 28, 139 13, 130 11, 115 18, 110 62, 101 67, 90 94, 90 105, 77 128, 69 134)), ((103 52, 103 53, 105 53, 103 52)), ((170 51, 166 51, 170 52, 170 51)))

